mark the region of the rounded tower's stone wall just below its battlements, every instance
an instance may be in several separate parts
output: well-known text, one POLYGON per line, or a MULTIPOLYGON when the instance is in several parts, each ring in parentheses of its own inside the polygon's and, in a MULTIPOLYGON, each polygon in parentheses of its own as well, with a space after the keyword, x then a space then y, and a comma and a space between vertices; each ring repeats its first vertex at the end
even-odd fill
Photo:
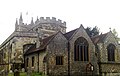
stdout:
POLYGON ((58 31, 66 33, 66 27, 61 27, 56 23, 40 23, 32 28, 30 31, 37 32, 42 38, 46 38, 57 33, 58 31))

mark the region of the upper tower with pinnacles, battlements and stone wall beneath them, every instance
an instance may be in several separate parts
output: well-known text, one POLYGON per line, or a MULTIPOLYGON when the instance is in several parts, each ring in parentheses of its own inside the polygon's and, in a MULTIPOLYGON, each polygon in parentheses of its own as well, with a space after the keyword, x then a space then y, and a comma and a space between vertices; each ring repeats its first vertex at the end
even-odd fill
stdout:
MULTIPOLYGON (((23 22, 22 14, 20 15, 20 18, 15 23, 15 31, 29 31, 31 29, 35 30, 37 27, 44 28, 46 30, 52 30, 52 31, 61 31, 66 32, 66 22, 62 21, 60 19, 56 19, 55 17, 40 17, 36 19, 36 21, 33 21, 33 17, 31 19, 30 24, 26 24, 23 22)), ((56 32, 57 32, 56 31, 56 32)))

